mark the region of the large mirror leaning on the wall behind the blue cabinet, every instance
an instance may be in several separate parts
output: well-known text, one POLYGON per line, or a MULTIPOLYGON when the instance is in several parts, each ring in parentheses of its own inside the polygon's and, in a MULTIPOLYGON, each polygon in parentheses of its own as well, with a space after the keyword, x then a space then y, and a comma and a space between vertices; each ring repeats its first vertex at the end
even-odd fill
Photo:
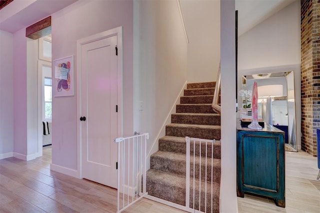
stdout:
MULTIPOLYGON (((258 115, 285 133, 286 151, 297 152, 293 71, 243 75, 242 91, 252 90, 254 81, 258 85, 258 115)), ((249 98, 240 96, 238 100, 240 107, 250 106, 249 98)))

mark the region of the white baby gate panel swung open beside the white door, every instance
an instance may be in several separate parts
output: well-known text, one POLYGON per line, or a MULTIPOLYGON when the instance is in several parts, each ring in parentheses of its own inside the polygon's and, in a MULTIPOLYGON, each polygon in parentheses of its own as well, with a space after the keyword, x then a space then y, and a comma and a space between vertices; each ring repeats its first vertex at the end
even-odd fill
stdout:
POLYGON ((117 213, 143 198, 146 193, 146 140, 148 133, 116 138, 118 144, 117 213))

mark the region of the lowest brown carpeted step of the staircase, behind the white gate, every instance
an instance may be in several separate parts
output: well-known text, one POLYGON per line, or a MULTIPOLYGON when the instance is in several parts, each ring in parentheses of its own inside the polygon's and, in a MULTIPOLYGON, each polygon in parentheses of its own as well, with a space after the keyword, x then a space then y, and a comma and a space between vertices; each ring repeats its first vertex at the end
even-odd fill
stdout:
MULTIPOLYGON (((185 176, 175 175, 165 172, 159 172, 156 170, 148 170, 146 172, 146 179, 149 180, 146 184, 146 191, 148 195, 157 197, 175 204, 185 205, 185 176)), ((207 201, 210 201, 211 183, 201 181, 201 196, 205 194, 205 183, 207 188, 207 201)), ((198 207, 198 195, 199 195, 199 181, 195 179, 194 182, 195 191, 195 207, 198 207)), ((218 213, 219 206, 219 191, 220 186, 218 183, 212 183, 212 198, 213 213, 218 213)), ((190 179, 190 207, 193 205, 193 181, 190 179)), ((203 201, 204 199, 202 199, 203 201)), ((201 210, 203 211, 204 204, 201 204, 201 210)), ((207 203, 207 212, 209 210, 210 203, 207 203)), ((204 212, 204 211, 203 211, 204 212)))

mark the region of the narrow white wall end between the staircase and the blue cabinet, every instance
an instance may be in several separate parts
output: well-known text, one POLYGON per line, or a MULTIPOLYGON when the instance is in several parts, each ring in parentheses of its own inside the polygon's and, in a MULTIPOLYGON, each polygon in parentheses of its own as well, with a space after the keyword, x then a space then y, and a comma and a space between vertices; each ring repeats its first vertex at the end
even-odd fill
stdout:
POLYGON ((221 0, 220 212, 236 213, 235 2, 221 0))

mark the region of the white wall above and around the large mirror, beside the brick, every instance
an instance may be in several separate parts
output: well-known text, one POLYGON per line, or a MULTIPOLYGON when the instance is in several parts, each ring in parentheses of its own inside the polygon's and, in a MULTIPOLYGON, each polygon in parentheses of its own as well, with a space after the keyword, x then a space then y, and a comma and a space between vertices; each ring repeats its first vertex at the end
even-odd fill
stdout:
POLYGON ((300 0, 238 37, 238 89, 244 74, 294 71, 297 143, 301 144, 300 0))

